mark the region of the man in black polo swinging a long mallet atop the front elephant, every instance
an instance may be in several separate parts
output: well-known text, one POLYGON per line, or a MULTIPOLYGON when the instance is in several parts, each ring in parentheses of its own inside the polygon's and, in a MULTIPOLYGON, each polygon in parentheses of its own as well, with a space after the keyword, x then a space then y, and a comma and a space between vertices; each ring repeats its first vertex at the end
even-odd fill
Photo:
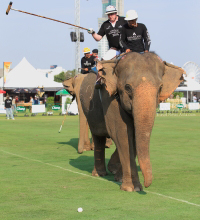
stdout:
POLYGON ((89 28, 88 33, 91 34, 96 41, 100 41, 104 35, 106 35, 109 50, 106 52, 103 60, 110 60, 121 53, 119 38, 121 29, 126 21, 124 17, 117 15, 117 9, 112 5, 106 7, 106 14, 108 15, 108 20, 101 25, 99 32, 95 33, 93 28, 89 28))

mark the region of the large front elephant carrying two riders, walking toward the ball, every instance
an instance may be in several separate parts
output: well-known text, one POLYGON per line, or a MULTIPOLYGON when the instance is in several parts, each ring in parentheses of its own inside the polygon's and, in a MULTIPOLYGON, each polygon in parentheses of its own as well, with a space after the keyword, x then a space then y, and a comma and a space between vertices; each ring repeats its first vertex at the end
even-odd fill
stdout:
POLYGON ((166 66, 152 52, 131 52, 120 60, 99 61, 97 69, 104 82, 102 88, 94 88, 96 75, 89 73, 79 93, 95 145, 92 175, 106 175, 104 146, 106 137, 111 137, 123 173, 120 189, 140 191, 136 154, 144 186, 149 187, 153 179, 149 143, 156 107, 183 81, 183 71, 166 66))

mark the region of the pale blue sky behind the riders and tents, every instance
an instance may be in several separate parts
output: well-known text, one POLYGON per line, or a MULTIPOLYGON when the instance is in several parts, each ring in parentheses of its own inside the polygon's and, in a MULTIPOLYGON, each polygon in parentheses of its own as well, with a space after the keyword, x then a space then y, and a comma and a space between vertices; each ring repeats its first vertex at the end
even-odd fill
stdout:
MULTIPOLYGON (((80 26, 98 31, 102 17, 101 0, 80 0, 80 26)), ((0 68, 12 62, 14 68, 23 57, 35 67, 51 65, 66 70, 75 67, 75 43, 71 42, 71 26, 10 11, 9 0, 0 0, 0 68)), ((14 9, 51 17, 67 23, 75 22, 74 0, 13 0, 14 9)), ((193 61, 200 66, 200 1, 199 0, 124 0, 124 15, 130 9, 138 13, 138 22, 146 25, 151 37, 151 51, 163 60, 183 66, 193 61)), ((98 48, 97 42, 83 30, 84 47, 98 48)))

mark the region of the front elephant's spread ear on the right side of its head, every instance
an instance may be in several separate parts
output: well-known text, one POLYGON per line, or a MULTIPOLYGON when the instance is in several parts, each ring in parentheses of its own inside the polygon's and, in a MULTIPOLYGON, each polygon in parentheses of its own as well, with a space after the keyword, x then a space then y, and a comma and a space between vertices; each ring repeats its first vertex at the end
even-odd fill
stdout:
POLYGON ((182 68, 165 62, 165 73, 162 77, 163 86, 159 96, 160 102, 167 99, 184 80, 183 74, 185 71, 182 68))

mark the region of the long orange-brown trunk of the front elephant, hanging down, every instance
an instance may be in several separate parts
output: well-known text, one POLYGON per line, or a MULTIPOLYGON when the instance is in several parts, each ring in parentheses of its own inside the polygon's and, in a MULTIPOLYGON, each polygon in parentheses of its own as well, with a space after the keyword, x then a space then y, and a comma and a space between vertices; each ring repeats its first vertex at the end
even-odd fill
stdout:
POLYGON ((144 176, 144 186, 149 187, 153 178, 149 143, 156 114, 157 89, 151 83, 145 81, 136 87, 133 97, 136 151, 144 176))

